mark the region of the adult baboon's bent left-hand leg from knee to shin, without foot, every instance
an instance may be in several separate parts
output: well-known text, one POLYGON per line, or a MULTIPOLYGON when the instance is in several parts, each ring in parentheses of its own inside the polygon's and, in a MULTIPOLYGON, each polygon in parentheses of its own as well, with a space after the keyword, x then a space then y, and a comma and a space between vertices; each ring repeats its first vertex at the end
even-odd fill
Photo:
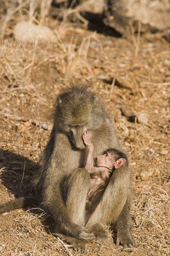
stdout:
POLYGON ((85 226, 85 199, 88 192, 90 175, 84 168, 74 170, 65 180, 66 208, 72 222, 85 226))

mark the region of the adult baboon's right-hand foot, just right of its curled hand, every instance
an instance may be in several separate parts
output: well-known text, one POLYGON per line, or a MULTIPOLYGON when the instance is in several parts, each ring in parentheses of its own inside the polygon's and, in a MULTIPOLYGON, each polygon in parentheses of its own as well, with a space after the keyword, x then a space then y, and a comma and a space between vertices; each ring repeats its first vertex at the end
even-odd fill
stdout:
POLYGON ((113 244, 113 239, 109 232, 109 229, 103 224, 95 224, 92 226, 92 232, 96 236, 96 242, 103 243, 105 245, 111 246, 113 244))

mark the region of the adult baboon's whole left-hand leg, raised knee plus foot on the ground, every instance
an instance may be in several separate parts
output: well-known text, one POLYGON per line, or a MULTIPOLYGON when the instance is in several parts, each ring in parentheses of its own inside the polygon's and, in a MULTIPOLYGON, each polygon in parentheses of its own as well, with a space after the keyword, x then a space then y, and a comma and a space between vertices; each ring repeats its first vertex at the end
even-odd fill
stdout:
MULTIPOLYGON (((72 222, 85 225, 85 199, 88 191, 90 175, 83 168, 78 168, 69 175, 63 183, 63 197, 66 209, 72 222)), ((64 239, 65 243, 71 244, 79 253, 85 252, 85 242, 72 236, 62 234, 60 228, 55 228, 54 236, 64 239)))

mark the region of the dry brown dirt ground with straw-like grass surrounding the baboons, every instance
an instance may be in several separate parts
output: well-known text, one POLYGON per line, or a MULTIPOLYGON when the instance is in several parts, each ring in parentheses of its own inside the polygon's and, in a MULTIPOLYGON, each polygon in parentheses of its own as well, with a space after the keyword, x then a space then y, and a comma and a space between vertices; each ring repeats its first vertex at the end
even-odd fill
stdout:
MULTIPOLYGON (((5 20, 7 14, 1 19, 5 20)), ((117 128, 128 154, 134 188, 131 216, 137 248, 92 242, 85 255, 165 256, 170 234, 169 82, 170 48, 160 34, 126 41, 48 18, 62 40, 42 45, 12 44, 14 13, 1 47, 0 204, 31 193, 39 154, 52 128, 48 119, 59 90, 70 80, 91 82, 117 128), (108 41, 110 42, 108 43, 108 41), (127 45, 126 45, 127 43, 127 45), (115 79, 115 84, 113 78, 115 79), (112 83, 113 82, 113 83, 112 83), (112 85, 111 85, 112 84, 112 85), (131 122, 124 105, 136 113, 131 122)), ((50 234, 52 220, 40 209, 19 209, 0 216, 0 255, 78 255, 50 234)))

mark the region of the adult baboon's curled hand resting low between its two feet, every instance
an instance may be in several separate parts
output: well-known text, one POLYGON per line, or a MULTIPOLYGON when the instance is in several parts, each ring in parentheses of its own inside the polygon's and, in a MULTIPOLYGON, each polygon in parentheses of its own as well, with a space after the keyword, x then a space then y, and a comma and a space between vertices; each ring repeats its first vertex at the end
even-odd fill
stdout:
POLYGON ((91 242, 92 240, 95 240, 95 236, 92 231, 85 227, 79 226, 75 231, 75 237, 83 240, 84 242, 91 242))

